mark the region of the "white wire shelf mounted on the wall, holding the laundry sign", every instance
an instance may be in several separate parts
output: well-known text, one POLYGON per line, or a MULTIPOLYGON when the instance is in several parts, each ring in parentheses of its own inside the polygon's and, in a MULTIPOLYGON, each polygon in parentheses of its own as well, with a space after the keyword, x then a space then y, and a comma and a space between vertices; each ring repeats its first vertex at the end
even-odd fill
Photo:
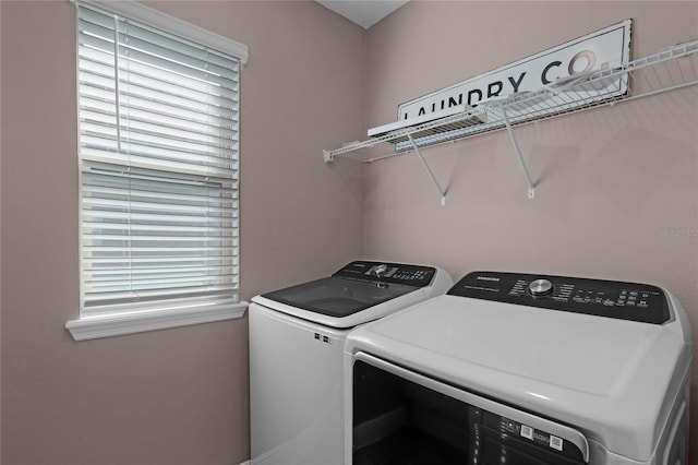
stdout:
MULTIPOLYGON (((693 40, 622 67, 558 79, 535 92, 481 102, 476 108, 453 116, 392 131, 334 151, 324 151, 324 158, 325 162, 332 162, 336 156, 386 142, 395 144, 395 152, 399 154, 504 129, 507 128, 507 122, 510 131, 513 126, 525 122, 615 105, 696 84, 698 40, 693 40)), ((386 156, 368 158, 364 162, 384 157, 386 156)))

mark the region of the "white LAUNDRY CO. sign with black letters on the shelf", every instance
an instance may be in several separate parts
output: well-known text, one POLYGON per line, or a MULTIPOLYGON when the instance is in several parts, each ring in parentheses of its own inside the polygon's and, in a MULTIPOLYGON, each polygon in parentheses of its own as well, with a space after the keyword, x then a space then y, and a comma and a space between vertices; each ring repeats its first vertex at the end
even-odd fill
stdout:
MULTIPOLYGON (((624 21, 407 102, 398 107, 398 120, 442 111, 458 105, 476 107, 491 98, 537 91, 561 78, 625 64, 630 58, 631 24, 633 20, 624 21)), ((627 91, 627 82, 623 79, 610 85, 615 85, 616 88, 612 90, 612 94, 609 94, 607 86, 599 90, 599 98, 622 95, 627 91)))

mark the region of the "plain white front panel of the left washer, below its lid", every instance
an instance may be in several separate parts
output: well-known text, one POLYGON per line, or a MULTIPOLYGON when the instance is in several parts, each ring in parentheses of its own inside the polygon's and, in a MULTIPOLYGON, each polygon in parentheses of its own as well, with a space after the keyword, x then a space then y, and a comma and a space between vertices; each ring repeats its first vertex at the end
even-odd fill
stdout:
POLYGON ((346 332, 250 306, 252 464, 342 462, 345 338, 346 332))

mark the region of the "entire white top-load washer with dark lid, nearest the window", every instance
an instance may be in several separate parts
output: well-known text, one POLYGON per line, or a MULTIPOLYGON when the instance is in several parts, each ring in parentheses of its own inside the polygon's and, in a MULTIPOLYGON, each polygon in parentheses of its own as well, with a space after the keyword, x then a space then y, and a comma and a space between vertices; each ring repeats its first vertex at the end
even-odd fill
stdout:
POLYGON ((444 294, 434 266, 356 261, 250 305, 253 464, 344 461, 344 344, 349 331, 444 294))

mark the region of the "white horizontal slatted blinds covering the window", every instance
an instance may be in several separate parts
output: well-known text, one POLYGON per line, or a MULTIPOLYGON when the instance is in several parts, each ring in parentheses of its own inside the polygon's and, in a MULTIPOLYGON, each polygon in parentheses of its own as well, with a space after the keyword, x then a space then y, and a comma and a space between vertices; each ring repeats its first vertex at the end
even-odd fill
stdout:
POLYGON ((81 315, 239 302, 239 60, 77 21, 81 315))

